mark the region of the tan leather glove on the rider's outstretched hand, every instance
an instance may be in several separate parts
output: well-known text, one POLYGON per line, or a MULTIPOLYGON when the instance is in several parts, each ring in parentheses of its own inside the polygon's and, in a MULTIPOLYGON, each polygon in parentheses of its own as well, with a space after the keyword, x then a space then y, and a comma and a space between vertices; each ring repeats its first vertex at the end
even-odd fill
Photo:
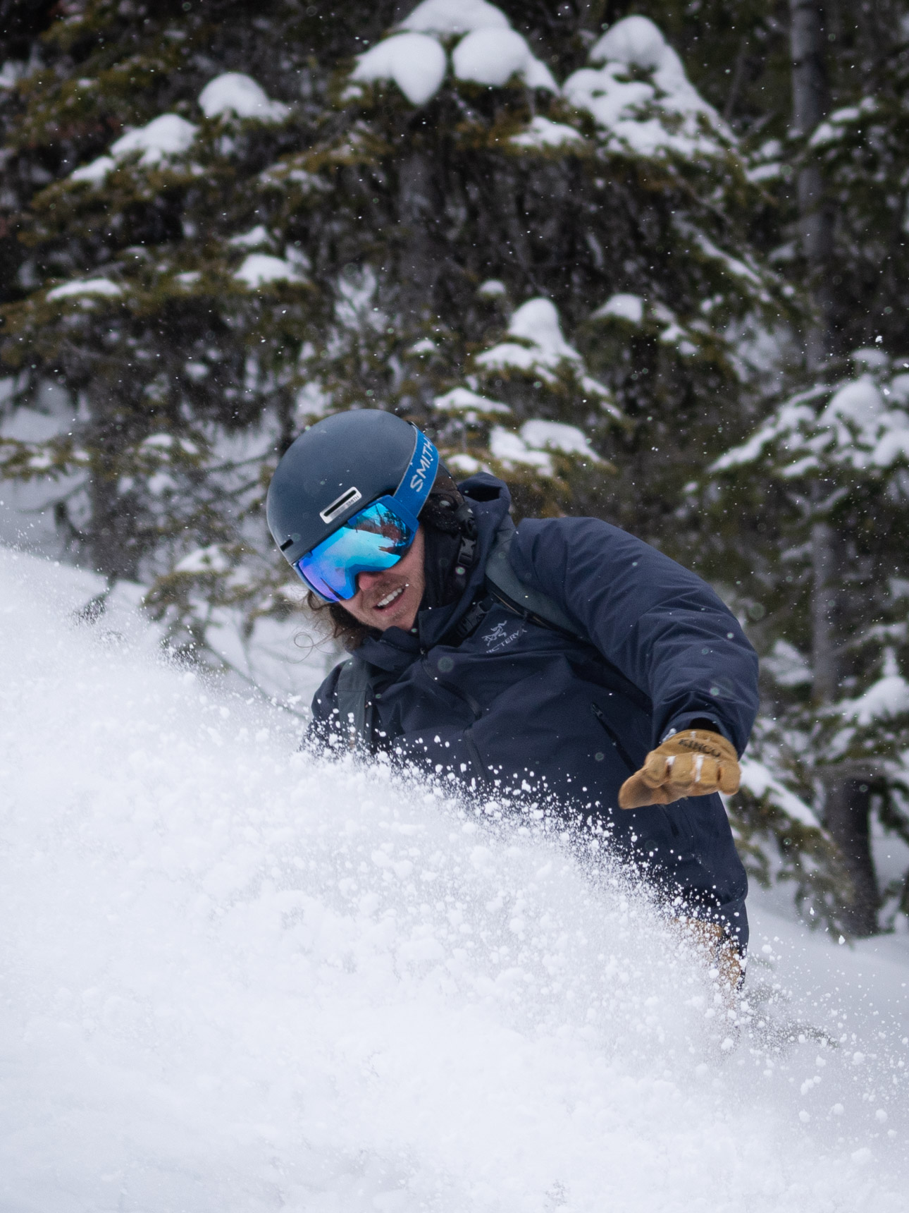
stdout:
POLYGON ((709 729, 684 729, 651 750, 618 790, 619 808, 671 804, 685 796, 737 792, 742 773, 734 747, 709 729))

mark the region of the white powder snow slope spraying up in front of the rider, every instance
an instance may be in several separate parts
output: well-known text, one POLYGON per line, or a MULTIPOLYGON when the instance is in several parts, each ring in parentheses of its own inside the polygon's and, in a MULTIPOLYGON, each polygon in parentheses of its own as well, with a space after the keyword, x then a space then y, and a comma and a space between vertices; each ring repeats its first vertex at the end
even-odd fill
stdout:
POLYGON ((4 1213, 907 1208, 902 953, 765 912, 724 1049, 602 862, 296 754, 84 598, 0 551, 4 1213))

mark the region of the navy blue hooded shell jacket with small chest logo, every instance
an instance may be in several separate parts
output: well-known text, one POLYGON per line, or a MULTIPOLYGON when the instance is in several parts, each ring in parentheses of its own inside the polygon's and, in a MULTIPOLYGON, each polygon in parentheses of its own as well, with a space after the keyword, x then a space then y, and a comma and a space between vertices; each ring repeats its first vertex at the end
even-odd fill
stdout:
MULTIPOLYGON (((416 633, 388 628, 355 660, 378 676, 377 731, 391 754, 482 792, 524 788, 604 826, 682 912, 747 941, 748 879, 719 796, 623 810, 619 786, 673 729, 710 719, 741 753, 758 711, 758 659, 698 576, 596 518, 526 519, 509 559, 589 639, 493 605, 465 640, 452 628, 482 594, 486 557, 508 513, 491 475, 459 485, 479 554, 458 602, 424 609, 416 633)), ((332 671, 313 700, 310 740, 341 740, 332 671)))

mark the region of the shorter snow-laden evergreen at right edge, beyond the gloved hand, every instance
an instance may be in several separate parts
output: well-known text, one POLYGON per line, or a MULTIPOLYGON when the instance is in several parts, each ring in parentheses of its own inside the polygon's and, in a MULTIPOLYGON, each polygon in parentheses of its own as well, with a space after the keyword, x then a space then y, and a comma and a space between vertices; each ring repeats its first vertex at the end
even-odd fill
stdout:
POLYGON ((714 571, 764 659, 748 809, 772 819, 789 796, 814 808, 841 864, 834 913, 868 935, 909 911, 907 859, 881 882, 869 837, 888 831, 894 856, 909 842, 909 361, 875 347, 854 361, 853 377, 788 399, 724 455, 707 508, 714 571))

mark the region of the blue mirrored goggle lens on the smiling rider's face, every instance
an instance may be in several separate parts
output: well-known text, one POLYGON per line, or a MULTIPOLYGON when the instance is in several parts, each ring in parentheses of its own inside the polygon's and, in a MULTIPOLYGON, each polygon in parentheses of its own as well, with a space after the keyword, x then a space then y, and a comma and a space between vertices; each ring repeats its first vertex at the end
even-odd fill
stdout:
POLYGON ((360 573, 393 569, 413 543, 419 523, 400 501, 378 497, 293 565, 326 602, 353 598, 360 573))

